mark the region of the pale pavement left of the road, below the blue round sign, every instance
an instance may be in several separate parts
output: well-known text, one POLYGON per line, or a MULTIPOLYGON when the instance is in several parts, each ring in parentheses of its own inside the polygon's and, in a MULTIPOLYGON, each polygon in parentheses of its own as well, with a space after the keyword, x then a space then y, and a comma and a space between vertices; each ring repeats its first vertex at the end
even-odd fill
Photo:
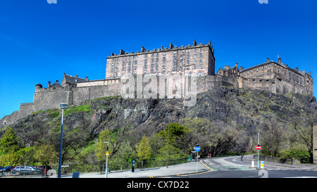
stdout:
MULTIPOLYGON (((207 172, 210 169, 198 162, 198 172, 207 172)), ((166 167, 148 168, 144 171, 135 169, 125 171, 108 172, 108 178, 150 178, 150 177, 178 177, 185 174, 197 173, 197 162, 186 162, 180 165, 170 165, 166 167)), ((100 173, 81 173, 80 178, 104 178, 105 174, 100 173)))

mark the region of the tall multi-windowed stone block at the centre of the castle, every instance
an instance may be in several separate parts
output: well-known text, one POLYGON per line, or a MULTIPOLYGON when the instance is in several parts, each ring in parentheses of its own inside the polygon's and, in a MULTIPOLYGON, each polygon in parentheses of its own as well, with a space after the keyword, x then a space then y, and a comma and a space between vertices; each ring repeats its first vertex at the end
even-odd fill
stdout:
POLYGON ((121 77, 125 74, 187 74, 187 75, 215 75, 215 57, 213 46, 199 44, 194 41, 191 46, 173 46, 169 49, 161 46, 160 49, 149 51, 142 46, 141 51, 120 55, 111 53, 107 57, 106 79, 121 77))

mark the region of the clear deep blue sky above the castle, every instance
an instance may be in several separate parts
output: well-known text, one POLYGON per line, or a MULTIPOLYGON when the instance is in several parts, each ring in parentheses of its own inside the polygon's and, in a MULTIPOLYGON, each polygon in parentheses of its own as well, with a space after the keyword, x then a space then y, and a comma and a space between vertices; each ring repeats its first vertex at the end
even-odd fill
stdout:
POLYGON ((317 79, 316 8, 315 0, 1 0, 0 118, 32 103, 35 84, 61 82, 63 72, 103 79, 106 57, 120 49, 186 46, 194 39, 211 41, 216 71, 279 55, 317 79))

